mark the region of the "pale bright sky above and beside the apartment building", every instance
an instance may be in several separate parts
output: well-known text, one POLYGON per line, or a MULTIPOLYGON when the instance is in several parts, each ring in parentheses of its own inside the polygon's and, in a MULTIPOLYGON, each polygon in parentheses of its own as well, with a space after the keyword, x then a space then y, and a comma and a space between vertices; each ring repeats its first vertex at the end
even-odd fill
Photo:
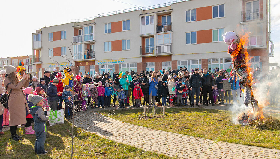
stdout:
MULTIPOLYGON (((174 1, 174 0, 171 0, 174 1)), ((41 27, 72 22, 98 16, 101 13, 133 7, 147 7, 170 2, 170 0, 10 0, 1 1, 2 51, 0 57, 32 55, 32 33, 41 27), (12 31, 14 30, 14 31, 12 31), (15 48, 17 46, 17 48, 15 48)), ((280 65, 280 0, 271 1, 271 39, 274 57, 270 62, 280 65)), ((239 13, 239 11, 238 11, 239 13)), ((270 44, 270 43, 269 43, 270 44)))

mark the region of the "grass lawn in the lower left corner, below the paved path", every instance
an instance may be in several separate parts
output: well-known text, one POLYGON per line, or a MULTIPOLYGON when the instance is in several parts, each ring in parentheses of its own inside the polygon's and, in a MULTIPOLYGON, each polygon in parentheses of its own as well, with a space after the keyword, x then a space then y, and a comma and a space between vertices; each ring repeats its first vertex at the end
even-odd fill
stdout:
MULTIPOLYGON (((0 136, 0 158, 70 158, 71 137, 67 129, 71 129, 71 124, 67 121, 64 124, 47 126, 45 149, 49 153, 42 156, 34 153, 35 134, 23 135, 24 128, 20 128, 17 133, 23 135, 24 139, 17 142, 9 140, 10 132, 6 131, 5 135, 0 136)), ((75 128, 76 133, 77 131, 81 129, 75 128)), ((73 158, 170 158, 86 132, 81 133, 74 141, 73 158)))

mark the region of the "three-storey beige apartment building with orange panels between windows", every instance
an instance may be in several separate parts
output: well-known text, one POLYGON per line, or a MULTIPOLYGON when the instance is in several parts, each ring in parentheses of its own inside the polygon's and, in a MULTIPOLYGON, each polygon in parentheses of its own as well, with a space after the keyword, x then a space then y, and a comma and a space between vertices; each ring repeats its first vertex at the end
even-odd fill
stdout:
POLYGON ((231 69, 222 34, 250 32, 251 67, 268 69, 267 0, 189 0, 100 14, 33 33, 38 75, 72 66, 88 71, 231 69), (70 53, 71 51, 71 53, 70 53))

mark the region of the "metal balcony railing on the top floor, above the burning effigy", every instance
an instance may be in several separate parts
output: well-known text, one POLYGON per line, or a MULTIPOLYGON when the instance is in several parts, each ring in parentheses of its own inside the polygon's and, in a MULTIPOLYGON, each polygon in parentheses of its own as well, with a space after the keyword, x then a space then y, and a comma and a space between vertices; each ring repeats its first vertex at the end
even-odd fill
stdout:
POLYGON ((263 8, 241 12, 241 22, 263 19, 263 8))

